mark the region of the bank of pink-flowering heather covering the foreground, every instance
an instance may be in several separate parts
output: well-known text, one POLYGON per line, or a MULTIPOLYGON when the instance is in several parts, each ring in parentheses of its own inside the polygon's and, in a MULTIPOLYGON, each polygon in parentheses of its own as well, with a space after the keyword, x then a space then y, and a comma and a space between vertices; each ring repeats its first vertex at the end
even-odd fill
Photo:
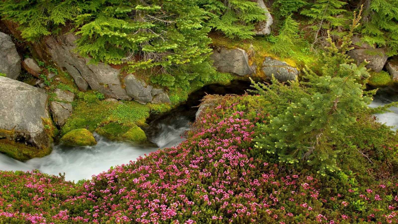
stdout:
POLYGON ((257 96, 213 101, 178 147, 90 181, 0 172, 0 222, 398 222, 397 182, 366 184, 348 171, 324 177, 258 157, 252 138, 267 122, 266 103, 257 96))

